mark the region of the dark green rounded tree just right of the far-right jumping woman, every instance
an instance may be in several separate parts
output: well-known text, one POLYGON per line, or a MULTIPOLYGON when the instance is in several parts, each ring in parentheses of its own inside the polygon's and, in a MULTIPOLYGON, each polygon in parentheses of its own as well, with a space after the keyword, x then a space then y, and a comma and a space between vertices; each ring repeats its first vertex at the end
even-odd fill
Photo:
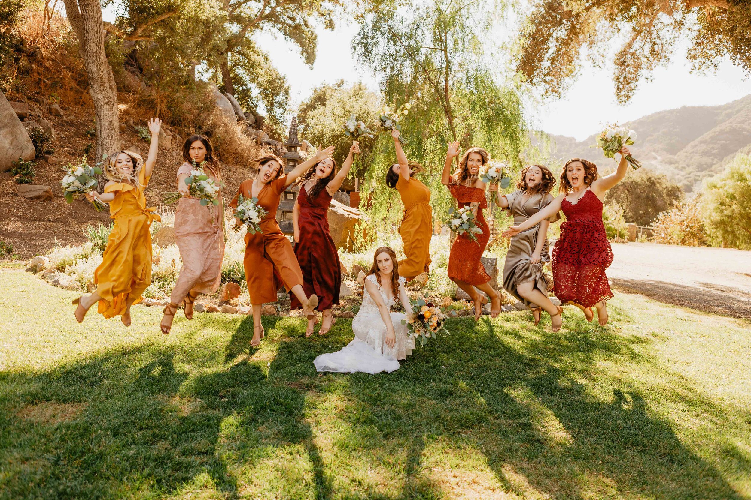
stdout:
POLYGON ((660 212, 683 200, 683 190, 665 175, 638 169, 608 191, 606 202, 623 207, 623 217, 637 226, 649 226, 660 212))

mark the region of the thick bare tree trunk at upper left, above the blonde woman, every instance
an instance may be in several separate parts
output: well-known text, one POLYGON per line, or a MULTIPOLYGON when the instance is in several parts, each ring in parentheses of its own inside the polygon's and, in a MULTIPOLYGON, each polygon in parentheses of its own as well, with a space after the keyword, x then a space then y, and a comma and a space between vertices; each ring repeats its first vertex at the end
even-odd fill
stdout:
POLYGON ((120 148, 117 86, 104 52, 99 0, 65 0, 68 21, 78 37, 96 115, 96 161, 120 148))

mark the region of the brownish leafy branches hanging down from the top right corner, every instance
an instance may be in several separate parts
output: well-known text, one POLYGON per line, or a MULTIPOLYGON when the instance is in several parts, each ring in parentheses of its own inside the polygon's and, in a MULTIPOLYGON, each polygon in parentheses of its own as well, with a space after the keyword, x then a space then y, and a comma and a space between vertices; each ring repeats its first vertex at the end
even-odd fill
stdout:
POLYGON ((535 0, 520 36, 517 70, 544 94, 566 92, 587 54, 613 56, 615 94, 628 102, 641 79, 690 41, 695 69, 722 58, 751 72, 751 4, 746 0, 535 0))

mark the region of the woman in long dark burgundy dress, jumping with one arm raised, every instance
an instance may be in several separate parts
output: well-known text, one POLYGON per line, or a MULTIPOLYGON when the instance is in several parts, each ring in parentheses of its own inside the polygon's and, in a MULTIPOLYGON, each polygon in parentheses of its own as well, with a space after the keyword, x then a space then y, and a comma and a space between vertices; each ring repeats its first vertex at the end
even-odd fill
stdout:
MULTIPOLYGON (((339 253, 331 239, 328 227, 328 207, 333 193, 339 190, 347 177, 354 154, 360 152, 357 141, 352 142, 342 169, 336 172, 333 158, 321 160, 298 181, 300 192, 292 211, 294 223, 294 255, 303 271, 303 289, 306 295, 318 296, 319 311, 323 311, 323 324, 319 335, 327 334, 336 320, 331 316, 331 306, 339 304, 339 287, 342 282, 339 253)), ((302 307, 294 295, 291 308, 302 307)), ((313 334, 318 315, 308 320, 305 336, 313 334)))

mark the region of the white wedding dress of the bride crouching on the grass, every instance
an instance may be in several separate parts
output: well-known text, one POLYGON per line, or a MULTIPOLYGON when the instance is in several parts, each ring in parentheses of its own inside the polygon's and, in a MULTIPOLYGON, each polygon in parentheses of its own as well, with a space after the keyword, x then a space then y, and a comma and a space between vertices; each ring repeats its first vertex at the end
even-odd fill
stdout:
MULTIPOLYGON (((378 286, 378 280, 375 274, 370 274, 365 278, 375 286, 378 286)), ((403 286, 406 280, 399 278, 403 286)), ((379 286, 379 292, 386 304, 391 306, 396 304, 393 297, 389 297, 386 292, 379 286)), ((407 325, 402 325, 404 319, 403 313, 391 313, 391 322, 394 323, 394 334, 397 337, 394 347, 389 347, 384 342, 386 338, 386 325, 381 318, 378 306, 375 305, 367 289, 363 289, 363 305, 352 320, 352 331, 354 339, 348 343, 344 349, 337 352, 327 352, 315 358, 313 364, 319 372, 339 372, 339 373, 379 373, 393 372, 399 368, 400 359, 406 359, 412 355, 412 349, 415 349, 415 339, 408 337, 409 331, 407 325)))

